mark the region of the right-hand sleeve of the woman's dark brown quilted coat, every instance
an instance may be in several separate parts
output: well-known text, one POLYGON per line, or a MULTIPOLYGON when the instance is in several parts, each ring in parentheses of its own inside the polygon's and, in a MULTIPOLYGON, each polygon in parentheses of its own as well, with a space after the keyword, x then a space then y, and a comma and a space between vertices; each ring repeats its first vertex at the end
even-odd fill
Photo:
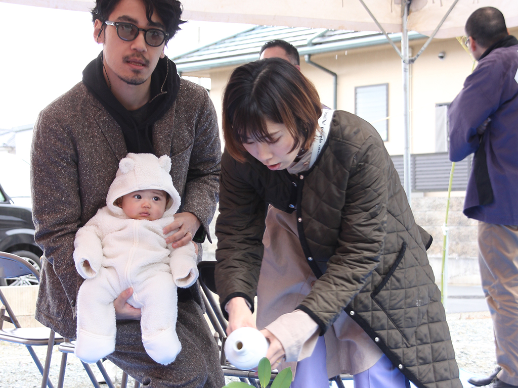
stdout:
POLYGON ((370 136, 352 156, 350 174, 342 177, 347 180, 346 198, 334 255, 298 306, 319 324, 321 334, 365 286, 383 255, 388 183, 380 143, 370 136))

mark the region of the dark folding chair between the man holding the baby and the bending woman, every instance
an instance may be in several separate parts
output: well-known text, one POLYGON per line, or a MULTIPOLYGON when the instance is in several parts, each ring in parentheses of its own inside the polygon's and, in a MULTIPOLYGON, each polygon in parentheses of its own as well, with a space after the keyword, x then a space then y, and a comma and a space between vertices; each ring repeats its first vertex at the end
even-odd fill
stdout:
MULTIPOLYGON (((227 321, 223 317, 223 313, 221 312, 220 305, 218 301, 215 300, 214 294, 216 292, 216 285, 214 281, 214 268, 215 261, 201 261, 198 263, 198 280, 200 285, 202 286, 202 297, 206 306, 207 317, 209 318, 210 323, 215 331, 214 337, 218 342, 218 346, 220 348, 220 363, 221 368, 223 369, 223 374, 229 377, 238 377, 241 381, 245 381, 253 386, 260 386, 258 384, 257 372, 240 370, 232 366, 228 363, 225 357, 225 352, 223 347, 225 346, 226 340, 226 327, 227 321)), ((271 380, 273 380, 277 376, 277 372, 272 371, 271 380)), ((335 381, 338 388, 344 388, 342 380, 350 380, 352 376, 350 375, 339 375, 330 381, 335 381)))

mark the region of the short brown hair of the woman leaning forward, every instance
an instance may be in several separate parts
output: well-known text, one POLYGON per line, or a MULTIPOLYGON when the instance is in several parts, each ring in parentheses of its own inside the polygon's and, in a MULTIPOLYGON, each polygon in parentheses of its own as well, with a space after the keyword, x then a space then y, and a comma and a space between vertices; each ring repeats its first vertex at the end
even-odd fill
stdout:
MULTIPOLYGON (((290 62, 267 58, 236 68, 223 95, 223 137, 233 158, 244 161, 243 143, 272 141, 266 121, 284 124, 292 150, 307 150, 322 114, 313 84, 290 62)), ((290 151, 290 152, 291 152, 290 151)))

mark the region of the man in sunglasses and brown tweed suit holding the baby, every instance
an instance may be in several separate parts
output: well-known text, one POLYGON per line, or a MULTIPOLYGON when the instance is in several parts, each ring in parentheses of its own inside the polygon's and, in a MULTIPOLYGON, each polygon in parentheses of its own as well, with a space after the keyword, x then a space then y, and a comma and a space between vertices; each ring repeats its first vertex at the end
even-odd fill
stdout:
MULTIPOLYGON (((180 2, 97 0, 92 16, 103 51, 84 69, 82 82, 40 113, 32 150, 35 237, 44 249, 36 318, 67 338, 76 336, 82 282, 73 260, 75 235, 106 205, 119 161, 128 152, 171 157, 182 207, 164 234, 175 248, 210 239, 219 185, 221 146, 212 102, 203 87, 180 79, 164 54, 183 23, 180 2)), ((114 302, 117 345, 108 359, 142 386, 224 385, 196 285, 178 292, 182 350, 167 366, 142 346, 140 310, 126 303, 132 292, 114 302)))

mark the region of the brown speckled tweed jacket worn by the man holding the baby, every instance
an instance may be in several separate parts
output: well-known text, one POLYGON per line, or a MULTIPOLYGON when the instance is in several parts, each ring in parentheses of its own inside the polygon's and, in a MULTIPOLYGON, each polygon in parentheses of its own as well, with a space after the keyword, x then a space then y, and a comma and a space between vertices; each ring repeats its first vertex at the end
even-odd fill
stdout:
MULTIPOLYGON (((155 155, 170 155, 181 212, 206 231, 218 201, 221 145, 207 91, 181 80, 176 101, 153 126, 155 155)), ((119 124, 82 82, 52 102, 36 122, 32 147, 33 217, 44 249, 36 319, 65 337, 76 336, 76 297, 83 279, 74 239, 98 208, 119 161, 127 154, 119 124)), ((209 237, 210 240, 210 237, 209 237)))

